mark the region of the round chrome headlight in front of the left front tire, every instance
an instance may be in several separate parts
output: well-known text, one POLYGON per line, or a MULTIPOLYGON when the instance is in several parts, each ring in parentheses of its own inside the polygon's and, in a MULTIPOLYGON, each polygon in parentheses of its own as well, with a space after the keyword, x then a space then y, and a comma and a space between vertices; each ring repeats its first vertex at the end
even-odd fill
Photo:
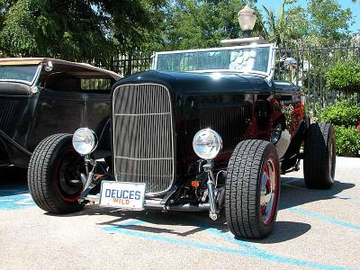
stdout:
POLYGON ((97 146, 97 137, 93 130, 81 128, 75 131, 73 135, 73 146, 80 155, 88 155, 94 151, 97 146))

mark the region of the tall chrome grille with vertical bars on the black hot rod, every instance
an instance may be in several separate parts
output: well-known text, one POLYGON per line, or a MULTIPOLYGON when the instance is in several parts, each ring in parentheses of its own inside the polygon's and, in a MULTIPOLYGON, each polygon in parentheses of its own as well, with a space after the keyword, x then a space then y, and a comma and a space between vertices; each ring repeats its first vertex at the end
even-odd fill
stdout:
POLYGON ((116 180, 146 183, 165 193, 174 180, 174 134, 165 86, 121 85, 112 96, 113 165, 116 180))

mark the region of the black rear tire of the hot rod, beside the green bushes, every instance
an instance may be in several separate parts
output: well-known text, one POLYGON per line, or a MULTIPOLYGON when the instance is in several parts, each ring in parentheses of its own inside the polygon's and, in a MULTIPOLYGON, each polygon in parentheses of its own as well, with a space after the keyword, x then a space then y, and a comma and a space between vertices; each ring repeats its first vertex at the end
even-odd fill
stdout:
POLYGON ((312 123, 305 140, 303 171, 309 188, 329 189, 336 166, 335 134, 329 123, 312 123))

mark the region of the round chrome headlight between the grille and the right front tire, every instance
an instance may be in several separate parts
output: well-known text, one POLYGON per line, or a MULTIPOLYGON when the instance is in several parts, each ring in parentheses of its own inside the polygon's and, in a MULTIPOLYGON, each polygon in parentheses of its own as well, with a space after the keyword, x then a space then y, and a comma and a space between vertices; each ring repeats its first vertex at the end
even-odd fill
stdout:
POLYGON ((221 148, 222 139, 215 130, 200 130, 193 137, 193 150, 202 159, 215 158, 218 156, 221 148))

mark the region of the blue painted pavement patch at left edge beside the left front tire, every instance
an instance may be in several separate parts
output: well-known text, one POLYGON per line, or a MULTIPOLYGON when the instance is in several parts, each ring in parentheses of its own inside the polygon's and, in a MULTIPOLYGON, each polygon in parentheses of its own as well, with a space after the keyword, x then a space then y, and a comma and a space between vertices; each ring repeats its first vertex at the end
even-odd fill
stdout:
POLYGON ((0 189, 0 210, 19 210, 34 205, 27 189, 0 189))

